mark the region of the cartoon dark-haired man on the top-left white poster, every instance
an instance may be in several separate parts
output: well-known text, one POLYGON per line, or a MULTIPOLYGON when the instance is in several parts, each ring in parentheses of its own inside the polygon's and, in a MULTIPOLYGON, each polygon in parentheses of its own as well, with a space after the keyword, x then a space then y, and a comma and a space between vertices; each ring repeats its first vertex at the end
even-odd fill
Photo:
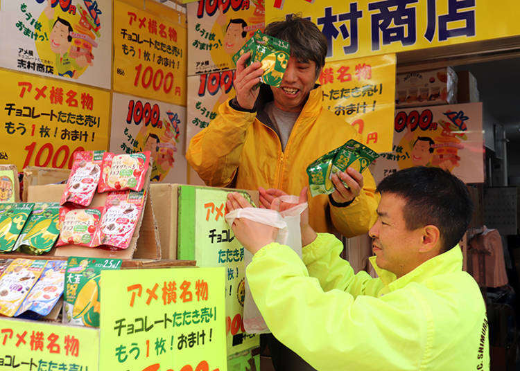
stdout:
POLYGON ((69 48, 72 44, 73 28, 69 21, 57 17, 54 19, 55 10, 52 8, 51 0, 47 1, 47 6, 44 9, 44 15, 49 19, 49 43, 51 51, 55 53, 55 71, 60 76, 68 76, 69 78, 78 78, 76 71, 92 65, 92 61, 87 60, 84 53, 71 53, 69 48))

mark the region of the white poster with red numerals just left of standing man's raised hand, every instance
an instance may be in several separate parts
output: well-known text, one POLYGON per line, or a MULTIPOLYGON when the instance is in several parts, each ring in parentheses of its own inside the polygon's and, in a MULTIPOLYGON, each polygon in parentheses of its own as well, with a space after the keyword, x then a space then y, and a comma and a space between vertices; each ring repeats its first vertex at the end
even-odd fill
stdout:
POLYGON ((235 70, 188 76, 188 114, 186 148, 191 138, 209 125, 220 106, 234 96, 235 70))

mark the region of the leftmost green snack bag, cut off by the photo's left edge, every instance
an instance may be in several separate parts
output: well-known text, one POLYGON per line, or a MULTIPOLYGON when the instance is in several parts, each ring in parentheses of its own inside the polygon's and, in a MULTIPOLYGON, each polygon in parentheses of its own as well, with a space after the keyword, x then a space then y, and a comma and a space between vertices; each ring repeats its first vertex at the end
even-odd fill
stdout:
POLYGON ((12 251, 34 203, 0 203, 0 251, 12 251))

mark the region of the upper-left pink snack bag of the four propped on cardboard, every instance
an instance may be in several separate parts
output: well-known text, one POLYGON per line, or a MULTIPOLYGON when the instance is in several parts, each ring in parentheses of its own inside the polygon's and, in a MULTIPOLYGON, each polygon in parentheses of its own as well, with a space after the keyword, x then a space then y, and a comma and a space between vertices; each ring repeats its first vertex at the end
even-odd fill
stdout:
POLYGON ((103 153, 105 151, 83 151, 74 154, 71 174, 60 206, 67 202, 78 206, 90 205, 101 175, 103 153))

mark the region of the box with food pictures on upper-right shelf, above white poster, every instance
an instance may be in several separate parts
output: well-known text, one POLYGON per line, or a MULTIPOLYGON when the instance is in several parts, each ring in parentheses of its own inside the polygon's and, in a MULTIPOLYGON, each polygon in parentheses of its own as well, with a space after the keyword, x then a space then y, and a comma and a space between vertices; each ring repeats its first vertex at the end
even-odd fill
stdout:
POLYGON ((395 79, 398 108, 452 105, 457 102, 457 74, 451 67, 399 73, 395 79))

